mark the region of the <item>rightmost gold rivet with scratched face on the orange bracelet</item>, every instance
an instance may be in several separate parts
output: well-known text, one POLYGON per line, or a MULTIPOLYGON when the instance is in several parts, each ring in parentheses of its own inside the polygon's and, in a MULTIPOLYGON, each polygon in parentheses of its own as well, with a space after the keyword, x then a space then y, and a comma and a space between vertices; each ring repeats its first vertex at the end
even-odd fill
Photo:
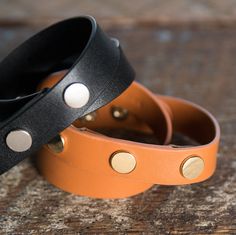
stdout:
POLYGON ((185 160, 181 166, 182 175, 187 179, 197 178, 204 169, 204 161, 198 157, 193 156, 185 160))

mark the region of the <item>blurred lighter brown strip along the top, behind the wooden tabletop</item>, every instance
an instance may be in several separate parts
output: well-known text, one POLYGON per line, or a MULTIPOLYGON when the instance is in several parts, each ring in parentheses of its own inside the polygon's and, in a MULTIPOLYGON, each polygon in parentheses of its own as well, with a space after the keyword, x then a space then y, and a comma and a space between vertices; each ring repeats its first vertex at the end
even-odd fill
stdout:
POLYGON ((48 24, 70 16, 90 14, 102 24, 177 24, 232 21, 234 0, 1 0, 1 23, 48 24))

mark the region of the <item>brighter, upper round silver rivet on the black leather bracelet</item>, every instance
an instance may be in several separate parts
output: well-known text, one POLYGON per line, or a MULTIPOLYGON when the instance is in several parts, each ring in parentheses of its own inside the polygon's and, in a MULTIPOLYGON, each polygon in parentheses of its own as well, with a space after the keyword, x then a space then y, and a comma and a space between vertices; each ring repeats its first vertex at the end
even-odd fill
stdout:
POLYGON ((88 103, 89 97, 89 90, 82 83, 71 84, 64 92, 64 100, 71 108, 82 108, 88 103))

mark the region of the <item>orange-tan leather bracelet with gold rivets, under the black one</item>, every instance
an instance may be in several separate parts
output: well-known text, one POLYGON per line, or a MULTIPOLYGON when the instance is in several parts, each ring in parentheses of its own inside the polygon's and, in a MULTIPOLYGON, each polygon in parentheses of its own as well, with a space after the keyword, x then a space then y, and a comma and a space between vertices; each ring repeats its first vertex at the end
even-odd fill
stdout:
POLYGON ((65 191, 97 198, 127 197, 153 184, 182 185, 209 178, 216 167, 219 125, 209 112, 191 102, 148 93, 164 113, 169 113, 173 131, 193 139, 199 143, 197 146, 145 144, 78 129, 127 126, 148 131, 142 119, 152 130, 154 126, 160 128, 162 122, 155 116, 153 106, 142 102, 143 94, 139 93, 133 101, 130 99, 129 92, 135 93, 137 86, 134 83, 120 97, 99 109, 94 121, 90 114, 87 123, 75 122, 49 147, 44 147, 37 158, 41 174, 65 191), (135 112, 133 106, 137 107, 135 112), (117 115, 113 114, 114 107, 122 107, 117 115), (122 110, 127 110, 130 118, 114 118, 123 116, 122 110), (132 119, 132 114, 137 118, 132 119))

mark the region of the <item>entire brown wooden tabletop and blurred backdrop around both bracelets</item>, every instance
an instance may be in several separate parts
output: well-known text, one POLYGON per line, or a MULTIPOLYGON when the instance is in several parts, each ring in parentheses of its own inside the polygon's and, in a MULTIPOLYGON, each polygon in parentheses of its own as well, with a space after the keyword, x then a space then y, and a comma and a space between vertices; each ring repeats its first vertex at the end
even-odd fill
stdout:
POLYGON ((236 1, 0 0, 0 60, 45 26, 81 14, 120 40, 136 80, 217 117, 216 174, 96 200, 56 189, 27 159, 0 177, 0 233, 236 234, 236 1))

